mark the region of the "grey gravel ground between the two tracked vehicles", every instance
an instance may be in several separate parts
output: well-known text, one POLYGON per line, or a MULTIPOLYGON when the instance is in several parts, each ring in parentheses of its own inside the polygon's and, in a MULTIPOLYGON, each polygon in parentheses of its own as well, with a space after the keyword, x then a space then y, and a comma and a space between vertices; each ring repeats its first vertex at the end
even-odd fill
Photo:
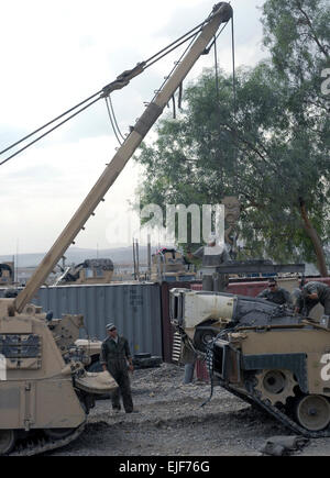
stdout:
MULTIPOLYGON (((217 387, 183 385, 184 368, 163 364, 135 370, 132 394, 139 413, 113 413, 99 400, 78 440, 56 456, 262 456, 272 436, 292 435, 272 416, 217 387)), ((294 456, 328 456, 330 438, 311 440, 294 456)))

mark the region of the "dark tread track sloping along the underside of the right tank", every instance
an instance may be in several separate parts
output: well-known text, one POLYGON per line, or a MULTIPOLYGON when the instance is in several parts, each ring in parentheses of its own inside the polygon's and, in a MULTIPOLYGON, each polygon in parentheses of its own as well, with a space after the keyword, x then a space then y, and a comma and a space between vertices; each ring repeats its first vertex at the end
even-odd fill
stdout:
POLYGON ((302 426, 300 426, 298 423, 296 423, 294 420, 292 420, 287 414, 283 413, 280 410, 278 410, 275 405, 272 405, 271 403, 264 402, 261 400, 256 393, 249 392, 249 394, 243 394, 238 391, 235 391, 233 388, 228 386, 224 381, 221 380, 221 387, 223 387, 227 391, 230 393, 241 398, 245 402, 250 404, 257 404, 263 410, 268 412, 271 415, 273 415, 278 422, 280 422, 284 426, 289 429, 292 432, 298 435, 306 436, 307 438, 328 438, 330 437, 330 427, 322 430, 320 432, 311 432, 302 426))

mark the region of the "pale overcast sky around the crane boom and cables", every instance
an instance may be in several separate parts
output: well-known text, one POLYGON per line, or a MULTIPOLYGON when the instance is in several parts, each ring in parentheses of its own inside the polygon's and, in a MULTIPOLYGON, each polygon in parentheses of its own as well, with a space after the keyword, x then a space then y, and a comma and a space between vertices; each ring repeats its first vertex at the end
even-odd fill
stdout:
MULTIPOLYGON (((232 0, 235 66, 253 66, 262 47, 263 0, 232 0)), ((11 0, 1 2, 0 151, 99 91, 123 70, 201 23, 206 0, 11 0)), ((232 69, 231 31, 218 41, 219 65, 232 69)), ((155 64, 111 98, 123 134, 144 111, 177 54, 155 64)), ((186 84, 213 67, 199 58, 186 84)), ((151 132, 147 140, 151 141, 151 132)), ((0 255, 47 252, 118 147, 106 103, 94 107, 0 166, 0 255)), ((6 159, 6 153, 0 160, 6 159)), ((96 210, 77 247, 130 245, 139 220, 130 209, 143 170, 131 159, 96 210)), ((146 240, 146 237, 145 237, 146 240)), ((142 237, 143 242, 144 238, 142 237)))

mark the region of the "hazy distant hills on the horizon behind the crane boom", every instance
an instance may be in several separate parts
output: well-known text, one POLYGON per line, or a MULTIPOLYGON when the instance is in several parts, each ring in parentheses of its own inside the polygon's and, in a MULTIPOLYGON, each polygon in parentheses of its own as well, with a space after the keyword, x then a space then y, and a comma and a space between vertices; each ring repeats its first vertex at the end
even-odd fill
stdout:
MULTIPOLYGON (((152 253, 155 252, 155 247, 152 247, 152 253)), ((44 258, 46 253, 40 254, 19 254, 18 264, 19 267, 36 267, 42 259, 44 258)), ((79 247, 69 247, 65 253, 66 264, 79 264, 84 263, 86 259, 97 258, 109 258, 113 262, 113 264, 133 264, 133 249, 132 247, 117 247, 109 249, 89 249, 89 248, 79 248, 79 247)), ((0 256, 0 262, 11 262, 13 259, 12 255, 0 256)), ((16 260, 16 256, 14 257, 16 260)), ((147 262, 147 247, 140 246, 139 247, 139 259, 140 263, 147 262)))

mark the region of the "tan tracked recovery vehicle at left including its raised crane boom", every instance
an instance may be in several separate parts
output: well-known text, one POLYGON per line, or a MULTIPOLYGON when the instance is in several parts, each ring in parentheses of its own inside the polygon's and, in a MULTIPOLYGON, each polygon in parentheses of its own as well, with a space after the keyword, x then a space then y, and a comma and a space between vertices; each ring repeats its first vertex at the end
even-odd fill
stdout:
MULTIPOLYGON (((95 376, 86 373, 79 347, 68 346, 70 337, 65 340, 61 323, 57 324, 58 333, 56 327, 52 331, 46 315, 30 302, 212 42, 220 24, 231 16, 229 3, 220 2, 213 7, 190 48, 131 129, 25 288, 16 298, 0 299, 0 455, 12 451, 18 454, 42 453, 76 438, 84 427, 94 394, 105 393, 113 387, 108 373, 95 376), (26 447, 26 438, 32 443, 31 448, 26 447), (22 451, 16 447, 15 452, 16 441, 21 442, 22 451)), ((102 90, 101 98, 127 86, 143 68, 144 64, 139 64, 124 71, 102 90)))

